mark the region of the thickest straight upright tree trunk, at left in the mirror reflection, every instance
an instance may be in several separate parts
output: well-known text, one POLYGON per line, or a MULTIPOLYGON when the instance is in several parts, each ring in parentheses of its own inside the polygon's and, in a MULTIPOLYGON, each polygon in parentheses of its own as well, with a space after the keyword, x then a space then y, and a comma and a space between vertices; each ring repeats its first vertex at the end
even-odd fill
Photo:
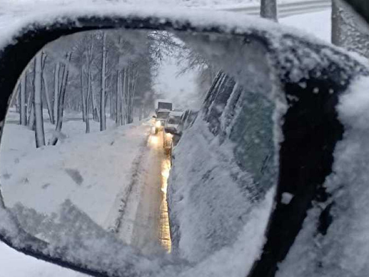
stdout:
POLYGON ((42 58, 43 53, 35 57, 35 79, 34 79, 34 109, 35 109, 35 139, 36 147, 45 146, 44 118, 42 109, 42 58))

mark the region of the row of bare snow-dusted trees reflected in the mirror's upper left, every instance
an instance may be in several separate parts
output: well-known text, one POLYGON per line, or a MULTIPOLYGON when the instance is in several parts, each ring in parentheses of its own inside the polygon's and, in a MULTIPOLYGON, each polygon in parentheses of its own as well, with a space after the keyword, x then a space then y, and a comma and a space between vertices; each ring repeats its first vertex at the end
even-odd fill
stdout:
POLYGON ((36 147, 46 145, 43 107, 55 125, 55 145, 64 110, 81 114, 106 129, 106 116, 117 125, 131 123, 153 109, 152 83, 161 51, 155 32, 90 31, 47 45, 19 78, 15 105, 20 124, 35 130, 36 147))

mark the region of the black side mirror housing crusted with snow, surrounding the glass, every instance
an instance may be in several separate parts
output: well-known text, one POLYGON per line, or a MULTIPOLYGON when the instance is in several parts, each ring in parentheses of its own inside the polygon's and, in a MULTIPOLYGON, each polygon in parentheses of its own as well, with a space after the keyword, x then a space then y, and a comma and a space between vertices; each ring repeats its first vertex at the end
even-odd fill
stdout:
MULTIPOLYGON (((27 13, 26 8, 9 16, 16 20, 13 24, 9 22, 7 32, 0 30, 1 127, 18 76, 46 43, 62 35, 124 27, 224 33, 243 36, 245 42, 257 39, 265 43, 288 105, 280 107, 282 120, 275 133, 280 147, 275 209, 268 224, 264 251, 248 276, 274 276, 277 264, 285 258, 301 229, 312 201, 324 202, 328 197, 323 182, 332 171, 333 150, 344 132, 335 110, 338 96, 347 89, 353 76, 368 75, 368 69, 345 52, 314 38, 233 13, 194 10, 173 13, 173 10, 135 9, 119 3, 91 3, 84 8, 78 6, 78 9, 76 5, 66 4, 47 12, 27 13), (316 122, 319 122, 320 132, 314 126, 316 122), (302 139, 304 136, 308 139, 302 139)), ((5 15, 0 15, 0 21, 5 15)), ((0 218, 0 240, 25 254, 92 276, 139 276, 133 271, 133 265, 122 268, 119 259, 113 267, 103 270, 103 264, 68 261, 64 259, 64 253, 49 253, 44 242, 25 233, 3 205, 0 206, 0 218)), ((320 219, 318 231, 323 234, 329 225, 329 211, 320 219)), ((135 259, 142 259, 139 262, 145 261, 146 266, 156 266, 154 272, 143 271, 140 272, 142 275, 165 272, 161 269, 165 265, 139 255, 135 259)))

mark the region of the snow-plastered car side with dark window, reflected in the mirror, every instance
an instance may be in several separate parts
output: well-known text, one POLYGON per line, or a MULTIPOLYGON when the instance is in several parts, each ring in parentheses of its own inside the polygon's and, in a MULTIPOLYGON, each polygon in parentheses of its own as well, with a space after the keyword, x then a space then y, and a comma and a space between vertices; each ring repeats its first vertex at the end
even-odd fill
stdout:
POLYGON ((218 73, 175 148, 168 192, 173 251, 189 261, 235 245, 245 225, 257 229, 244 240, 248 265, 264 241, 267 221, 254 222, 252 211, 261 206, 270 211, 271 198, 265 196, 276 184, 277 170, 274 106, 260 88, 243 89, 218 73))

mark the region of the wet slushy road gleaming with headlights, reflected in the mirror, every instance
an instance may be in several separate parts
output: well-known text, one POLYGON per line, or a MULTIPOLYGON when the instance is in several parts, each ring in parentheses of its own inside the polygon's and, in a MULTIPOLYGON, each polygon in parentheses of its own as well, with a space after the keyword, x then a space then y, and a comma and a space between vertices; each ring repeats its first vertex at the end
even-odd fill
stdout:
POLYGON ((166 185, 170 161, 164 153, 162 133, 149 135, 132 167, 130 192, 119 200, 117 236, 142 251, 159 243, 170 250, 166 185))

